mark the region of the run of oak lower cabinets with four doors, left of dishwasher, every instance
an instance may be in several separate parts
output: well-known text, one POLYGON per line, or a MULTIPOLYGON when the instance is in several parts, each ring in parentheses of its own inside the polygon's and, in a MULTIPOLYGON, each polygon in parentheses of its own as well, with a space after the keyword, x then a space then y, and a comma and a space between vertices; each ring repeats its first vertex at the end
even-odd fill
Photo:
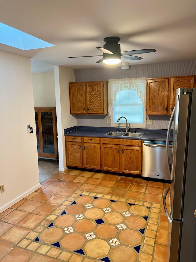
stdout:
POLYGON ((66 136, 66 166, 141 175, 141 140, 66 136))

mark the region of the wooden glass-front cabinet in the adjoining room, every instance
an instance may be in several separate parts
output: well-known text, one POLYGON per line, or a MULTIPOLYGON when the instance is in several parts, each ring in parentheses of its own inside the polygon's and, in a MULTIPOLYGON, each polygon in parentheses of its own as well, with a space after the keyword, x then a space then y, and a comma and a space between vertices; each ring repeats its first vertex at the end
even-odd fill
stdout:
POLYGON ((58 163, 56 108, 35 108, 38 157, 58 163))

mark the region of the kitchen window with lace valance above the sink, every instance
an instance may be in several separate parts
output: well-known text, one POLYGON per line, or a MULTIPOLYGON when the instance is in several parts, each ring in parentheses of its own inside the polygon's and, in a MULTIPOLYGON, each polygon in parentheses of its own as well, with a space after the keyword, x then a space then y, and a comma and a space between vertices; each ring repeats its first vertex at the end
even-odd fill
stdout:
POLYGON ((111 127, 126 127, 124 116, 131 128, 145 127, 147 78, 128 78, 108 80, 108 112, 111 127))

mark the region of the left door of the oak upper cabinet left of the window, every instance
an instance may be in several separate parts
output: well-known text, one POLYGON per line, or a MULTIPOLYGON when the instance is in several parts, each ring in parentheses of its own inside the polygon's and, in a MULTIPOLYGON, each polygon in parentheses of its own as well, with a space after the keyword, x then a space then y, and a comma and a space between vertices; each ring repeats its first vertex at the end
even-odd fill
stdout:
POLYGON ((70 113, 85 114, 85 83, 69 83, 70 113))

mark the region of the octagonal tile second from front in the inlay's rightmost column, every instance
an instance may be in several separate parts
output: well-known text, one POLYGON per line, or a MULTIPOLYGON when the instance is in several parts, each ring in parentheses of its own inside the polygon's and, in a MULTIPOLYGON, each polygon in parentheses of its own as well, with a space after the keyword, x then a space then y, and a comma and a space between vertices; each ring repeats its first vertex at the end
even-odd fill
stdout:
POLYGON ((129 246, 136 246, 141 243, 142 236, 138 231, 132 229, 125 229, 120 232, 119 239, 123 244, 129 246))

